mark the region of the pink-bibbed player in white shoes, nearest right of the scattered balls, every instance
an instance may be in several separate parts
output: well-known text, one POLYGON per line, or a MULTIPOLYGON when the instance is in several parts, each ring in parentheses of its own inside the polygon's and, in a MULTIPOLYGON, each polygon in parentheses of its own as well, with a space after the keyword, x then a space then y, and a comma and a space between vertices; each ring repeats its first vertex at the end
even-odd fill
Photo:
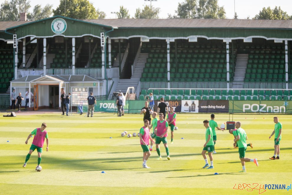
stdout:
POLYGON ((153 142, 153 139, 149 136, 149 121, 148 120, 144 120, 144 126, 140 129, 140 144, 141 147, 143 149, 143 164, 142 167, 143 168, 150 168, 146 165, 146 162, 148 160, 148 158, 150 157, 150 151, 148 148, 149 145, 149 139, 153 142))

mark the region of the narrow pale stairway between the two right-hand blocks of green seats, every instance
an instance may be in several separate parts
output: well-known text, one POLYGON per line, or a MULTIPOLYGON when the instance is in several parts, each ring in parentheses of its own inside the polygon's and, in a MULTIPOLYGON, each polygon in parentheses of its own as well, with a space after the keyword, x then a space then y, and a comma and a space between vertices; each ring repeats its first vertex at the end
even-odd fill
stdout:
POLYGON ((248 54, 237 54, 234 70, 234 82, 243 82, 247 66, 248 54))

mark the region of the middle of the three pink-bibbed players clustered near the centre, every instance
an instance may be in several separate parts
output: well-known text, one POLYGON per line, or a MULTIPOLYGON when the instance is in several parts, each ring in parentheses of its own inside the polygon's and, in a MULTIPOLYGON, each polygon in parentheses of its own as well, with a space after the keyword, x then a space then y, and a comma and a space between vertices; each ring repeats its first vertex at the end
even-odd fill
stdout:
POLYGON ((159 148, 159 144, 162 143, 164 144, 165 150, 166 150, 166 154, 167 154, 167 159, 170 160, 169 157, 169 149, 167 146, 167 131, 168 131, 168 122, 165 121, 163 119, 163 113, 159 113, 159 121, 157 121, 157 131, 155 131, 156 133, 156 140, 155 140, 155 144, 156 144, 156 152, 158 154, 158 159, 162 159, 161 155, 160 155, 160 148, 159 148))

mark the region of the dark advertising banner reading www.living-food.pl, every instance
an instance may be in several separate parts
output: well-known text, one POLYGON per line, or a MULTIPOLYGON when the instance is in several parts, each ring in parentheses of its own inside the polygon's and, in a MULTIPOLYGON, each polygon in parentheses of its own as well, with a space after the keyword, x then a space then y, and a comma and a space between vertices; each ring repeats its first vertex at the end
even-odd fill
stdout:
POLYGON ((199 100, 200 113, 228 113, 228 100, 199 100))

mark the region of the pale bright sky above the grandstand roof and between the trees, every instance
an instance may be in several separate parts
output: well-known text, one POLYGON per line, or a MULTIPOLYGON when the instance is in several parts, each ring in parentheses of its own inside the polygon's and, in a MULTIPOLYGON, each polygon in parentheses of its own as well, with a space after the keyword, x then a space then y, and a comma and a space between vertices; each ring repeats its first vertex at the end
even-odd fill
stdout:
MULTIPOLYGON (((3 0, 0 0, 3 1, 3 0)), ((157 0, 152 2, 152 5, 155 7, 160 7, 160 18, 166 18, 167 14, 175 14, 175 9, 177 9, 178 3, 183 2, 184 0, 157 0)), ((53 8, 56 8, 59 5, 59 0, 31 0, 31 5, 34 7, 36 4, 41 4, 45 6, 46 4, 53 4, 53 8)), ((129 9, 130 16, 134 16, 136 8, 143 8, 143 5, 150 5, 150 2, 144 0, 98 0, 90 1, 96 8, 104 11, 106 13, 106 18, 115 18, 115 14, 111 12, 118 12, 119 6, 123 5, 129 9)), ((233 18, 234 16, 234 0, 218 0, 220 6, 224 6, 226 10, 227 18, 233 18)), ((239 18, 250 18, 254 17, 263 7, 272 7, 281 6, 281 8, 286 11, 289 15, 292 15, 292 1, 291 0, 235 0, 235 11, 239 18)), ((32 11, 32 8, 31 10, 32 11)))

